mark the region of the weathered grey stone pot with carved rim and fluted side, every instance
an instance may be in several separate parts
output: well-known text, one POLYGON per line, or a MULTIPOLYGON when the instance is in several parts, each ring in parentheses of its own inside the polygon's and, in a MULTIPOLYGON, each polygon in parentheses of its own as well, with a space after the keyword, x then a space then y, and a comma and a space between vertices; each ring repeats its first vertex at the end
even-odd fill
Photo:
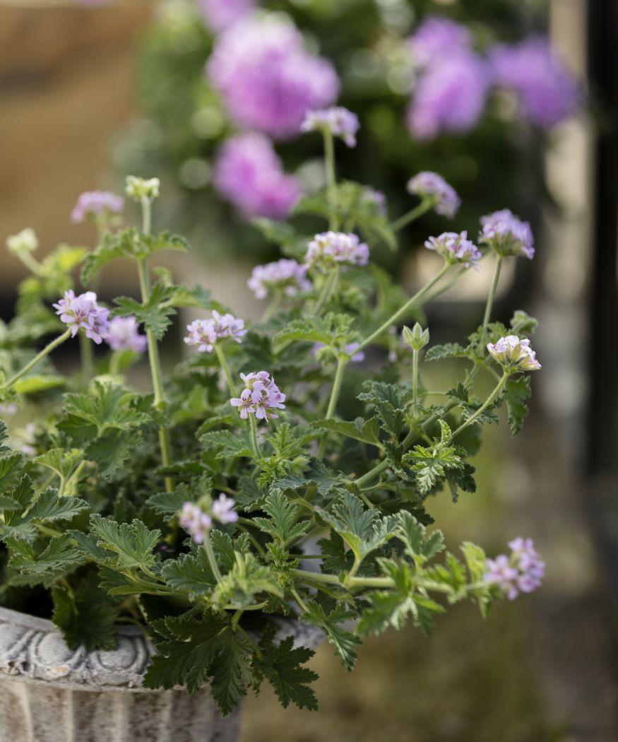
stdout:
MULTIPOLYGON (((235 742, 237 709, 223 717, 207 687, 151 691, 142 677, 153 646, 137 627, 118 628, 114 651, 68 649, 50 621, 0 608, 2 742, 235 742)), ((280 621, 315 647, 322 634, 280 621)))

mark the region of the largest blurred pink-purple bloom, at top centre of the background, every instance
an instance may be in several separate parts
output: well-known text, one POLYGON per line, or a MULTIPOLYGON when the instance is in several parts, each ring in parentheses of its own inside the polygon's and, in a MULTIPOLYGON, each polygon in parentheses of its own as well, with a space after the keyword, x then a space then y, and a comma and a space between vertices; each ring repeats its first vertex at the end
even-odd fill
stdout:
POLYGON ((207 73, 230 118, 275 139, 298 134, 307 111, 335 101, 331 63, 306 52, 303 37, 276 16, 251 15, 221 33, 207 73))

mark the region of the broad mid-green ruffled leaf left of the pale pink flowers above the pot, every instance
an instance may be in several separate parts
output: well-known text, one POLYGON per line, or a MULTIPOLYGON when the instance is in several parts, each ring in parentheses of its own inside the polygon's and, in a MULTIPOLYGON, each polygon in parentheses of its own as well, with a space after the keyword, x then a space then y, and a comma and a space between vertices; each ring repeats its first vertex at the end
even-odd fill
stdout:
POLYGON ((157 545, 161 531, 149 531, 139 520, 131 524, 116 523, 93 513, 91 530, 97 543, 116 554, 120 569, 143 568, 154 565, 152 550, 157 545))

